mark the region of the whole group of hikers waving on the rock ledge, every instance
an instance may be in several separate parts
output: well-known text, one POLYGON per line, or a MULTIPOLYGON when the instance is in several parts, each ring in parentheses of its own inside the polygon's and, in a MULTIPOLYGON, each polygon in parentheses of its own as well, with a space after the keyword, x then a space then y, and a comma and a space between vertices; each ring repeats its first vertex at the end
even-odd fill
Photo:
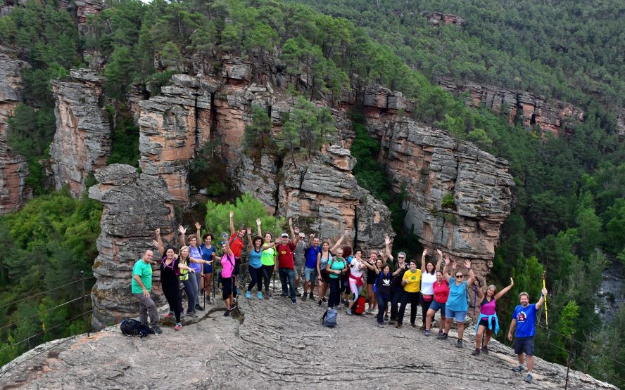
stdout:
MULTIPOLYGON (((270 280, 277 272, 282 285, 280 297, 288 298, 292 304, 301 301, 315 301, 317 284, 317 305, 327 304, 328 308, 338 309, 341 304, 348 316, 357 314, 374 315, 377 308, 377 326, 395 325, 401 329, 404 325, 405 310, 410 304, 410 326, 417 327, 417 307, 421 307, 421 330, 430 336, 434 315, 440 311, 437 339, 448 338, 453 319, 457 323, 456 346, 461 348, 465 330, 465 318, 469 309, 469 286, 475 286, 476 299, 480 302, 479 318, 476 320, 475 349, 472 354, 488 353, 488 342, 493 333, 499 331, 499 320, 495 311, 496 302, 514 285, 497 291, 494 285, 485 289, 473 273, 471 261, 464 261, 467 275, 436 250, 437 261, 427 261, 428 250, 424 249, 420 267, 417 261, 408 261, 405 252, 397 254, 397 260, 391 254, 391 239, 385 237, 385 248, 379 252, 371 250, 369 259, 363 258, 361 249, 341 247, 345 235, 334 245, 320 242, 315 234, 306 235, 298 228, 293 228, 289 219, 289 233, 282 233, 273 240, 271 233, 262 234, 261 221, 256 220, 257 235, 252 236, 251 228, 234 229, 234 212, 229 214, 230 234, 222 233, 220 250, 213 245, 215 237, 211 233, 201 235, 200 223, 195 223, 196 235, 187 236, 187 230, 180 226, 181 247, 165 248, 156 230, 153 245, 158 248, 160 261, 153 261, 153 252, 147 250, 135 264, 132 271, 132 294, 139 300, 139 320, 149 325, 151 332, 160 333, 156 305, 150 297, 152 284, 152 264, 160 266, 160 282, 163 294, 168 301, 170 311, 165 318, 175 318, 174 330, 182 328, 184 317, 182 290, 187 295, 187 316, 197 317, 196 311, 202 311, 199 304, 200 292, 210 291, 213 283, 214 263, 220 253, 221 271, 218 275, 222 286, 222 299, 225 303, 224 316, 229 316, 235 308, 237 278, 241 274, 241 253, 248 246, 248 271, 250 282, 244 293, 246 299, 252 299, 253 289, 256 298, 270 299, 270 280), (202 243, 198 245, 199 240, 202 243), (188 244, 188 245, 187 245, 188 244), (441 265, 443 268, 441 269, 441 265), (391 269, 392 268, 392 269, 391 269), (450 275, 451 273, 451 275, 450 275), (466 279, 468 276, 468 280, 466 279), (303 292, 299 292, 303 278, 303 292), (365 294, 362 290, 366 288, 365 294), (329 294, 327 294, 329 290, 329 294), (326 298, 327 296, 327 298, 326 298), (365 310, 365 303, 368 306, 365 310), (389 316, 390 306, 390 316, 389 316)), ((513 370, 524 370, 524 355, 527 356, 526 382, 532 380, 534 368, 534 333, 536 311, 543 305, 547 290, 543 288, 541 298, 536 304, 529 303, 529 294, 519 294, 520 304, 514 308, 512 322, 507 337, 512 341, 514 333, 514 353, 519 365, 513 370)), ((210 294, 206 295, 210 304, 210 294)))

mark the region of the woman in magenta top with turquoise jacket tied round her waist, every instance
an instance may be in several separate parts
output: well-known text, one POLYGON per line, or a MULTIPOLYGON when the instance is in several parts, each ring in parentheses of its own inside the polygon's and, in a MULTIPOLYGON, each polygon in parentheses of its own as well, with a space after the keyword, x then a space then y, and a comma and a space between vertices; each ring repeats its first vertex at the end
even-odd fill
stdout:
POLYGON ((486 287, 486 296, 484 296, 484 292, 482 292, 480 288, 477 289, 478 301, 481 303, 479 304, 479 317, 477 318, 478 325, 475 332, 475 351, 472 353, 473 356, 479 355, 480 350, 484 353, 488 353, 488 342, 491 341, 493 330, 495 334, 499 332, 499 318, 497 318, 497 313, 495 312, 496 302, 503 297, 506 292, 509 292, 512 286, 514 286, 514 280, 510 278, 510 285, 497 294, 495 294, 495 291, 497 291, 495 285, 486 287), (486 337, 484 337, 484 342, 482 342, 485 331, 486 337))

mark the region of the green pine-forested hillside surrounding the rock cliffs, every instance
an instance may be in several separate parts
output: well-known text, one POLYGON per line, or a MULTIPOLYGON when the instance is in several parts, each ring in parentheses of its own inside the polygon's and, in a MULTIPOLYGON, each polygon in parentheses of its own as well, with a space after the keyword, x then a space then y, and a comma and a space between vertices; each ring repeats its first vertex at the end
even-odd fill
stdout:
MULTIPOLYGON (((586 6, 579 2, 575 6, 529 0, 497 6, 491 4, 494 1, 410 1, 396 6, 388 1, 309 3, 346 18, 324 15, 303 4, 269 0, 155 0, 151 4, 124 0, 112 1, 99 15, 91 16, 80 36, 75 15, 57 8, 56 1, 28 1, 13 8, 10 15, 0 18, 0 39, 32 67, 23 72, 25 102, 11 119, 9 141, 29 157, 29 180, 35 193, 49 191, 41 162, 54 131, 50 80, 66 77, 72 67, 91 63, 98 69, 96 58, 103 59, 107 108, 115 118, 109 163, 137 162, 138 130, 125 100, 131 88, 154 96, 172 74, 189 71, 198 59, 208 70, 219 68, 215 58, 225 53, 259 67, 272 56, 289 74, 288 89, 293 95, 327 100, 329 105, 338 104, 343 89, 352 88, 360 96, 369 84, 386 84, 415 101, 415 119, 447 129, 510 162, 516 182, 512 214, 503 227, 491 275, 502 283, 511 275, 516 281, 502 310, 509 311, 515 293, 522 290, 538 297, 545 269, 553 292, 549 326, 557 333, 538 332, 538 354, 565 363, 562 349, 568 347, 574 332, 579 340, 576 367, 625 385, 619 382, 619 377, 625 377, 625 366, 605 358, 607 353, 625 361, 620 348, 624 338, 610 327, 603 330, 595 314, 602 269, 609 261, 625 260, 625 148, 617 136, 614 114, 625 90, 625 39, 618 23, 623 4, 607 1, 602 6, 586 6), (434 27, 421 11, 457 13, 466 22, 434 27), (589 18, 601 22, 588 26, 589 18), (486 109, 465 107, 462 100, 429 82, 440 75, 570 100, 583 108, 584 121, 572 124, 572 131, 557 138, 541 139, 534 129, 510 126, 486 109)), ((363 129, 357 113, 353 119, 357 138, 352 154, 359 159, 354 174, 361 186, 389 203, 398 237, 409 237, 402 224, 400 199, 386 192, 384 167, 372 158, 377 157, 379 144, 363 129)), ((43 240, 38 245, 49 246, 34 250, 42 255, 37 266, 56 264, 61 256, 54 251, 63 249, 63 259, 68 261, 63 263, 65 268, 84 269, 94 259, 99 209, 87 200, 64 200, 62 193, 32 202, 57 197, 63 199, 63 203, 58 201, 61 204, 68 202, 66 207, 50 207, 37 217, 42 227, 35 230, 35 225, 25 228, 23 224, 30 218, 29 207, 3 217, 8 234, 1 235, 6 240, 0 245, 5 253, 14 248, 33 251, 29 243, 43 240), (77 232, 77 226, 85 231, 77 232), (77 237, 87 238, 87 244, 77 245, 77 237), (63 245, 51 245, 53 240, 63 245)), ((405 245, 406 241, 398 240, 395 249, 405 245)), ((30 273, 18 271, 8 259, 1 261, 11 268, 3 280, 1 301, 13 299, 19 291, 15 285, 32 292, 46 290, 44 283, 27 278, 30 273)), ((28 310, 15 308, 4 309, 2 323, 37 318, 32 305, 28 310)), ((624 320, 621 310, 617 321, 624 320)), ((44 329, 44 320, 28 324, 34 332, 44 329)), ((509 322, 503 320, 503 324, 509 322)), ((0 332, 3 338, 18 339, 27 331, 8 327, 0 332)), ((2 358, 22 350, 13 349, 2 358)))

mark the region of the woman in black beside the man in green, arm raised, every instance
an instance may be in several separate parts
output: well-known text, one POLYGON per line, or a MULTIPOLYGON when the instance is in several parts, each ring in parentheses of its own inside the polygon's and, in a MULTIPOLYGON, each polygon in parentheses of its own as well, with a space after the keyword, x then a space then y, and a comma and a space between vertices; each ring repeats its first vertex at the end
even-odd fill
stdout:
POLYGON ((174 326, 174 330, 177 332, 182 328, 180 317, 183 310, 182 294, 180 293, 180 280, 178 279, 178 275, 181 269, 189 272, 194 272, 194 270, 193 268, 180 263, 173 247, 168 247, 165 250, 163 240, 160 239, 160 229, 156 229, 156 240, 152 241, 152 244, 158 248, 158 252, 161 254, 160 285, 163 288, 165 299, 167 299, 170 306, 170 311, 165 314, 165 318, 175 316, 176 325, 174 326))

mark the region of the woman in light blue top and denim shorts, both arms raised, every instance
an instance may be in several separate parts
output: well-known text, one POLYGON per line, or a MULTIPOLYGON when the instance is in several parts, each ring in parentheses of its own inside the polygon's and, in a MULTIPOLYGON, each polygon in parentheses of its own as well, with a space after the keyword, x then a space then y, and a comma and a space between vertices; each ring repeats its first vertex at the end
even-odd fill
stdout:
POLYGON ((449 284, 449 297, 445 304, 445 331, 438 336, 438 339, 446 340, 451 327, 453 318, 456 319, 458 324, 458 341, 456 346, 462 348, 462 336, 465 333, 465 317, 467 316, 467 310, 469 310, 469 302, 467 301, 467 295, 469 292, 469 285, 473 284, 475 280, 475 274, 471 269, 471 261, 465 259, 465 268, 469 270, 469 280, 465 280, 465 274, 462 271, 456 269, 455 261, 451 263, 454 277, 451 278, 447 273, 450 260, 445 259, 445 267, 443 268, 443 276, 449 284))

